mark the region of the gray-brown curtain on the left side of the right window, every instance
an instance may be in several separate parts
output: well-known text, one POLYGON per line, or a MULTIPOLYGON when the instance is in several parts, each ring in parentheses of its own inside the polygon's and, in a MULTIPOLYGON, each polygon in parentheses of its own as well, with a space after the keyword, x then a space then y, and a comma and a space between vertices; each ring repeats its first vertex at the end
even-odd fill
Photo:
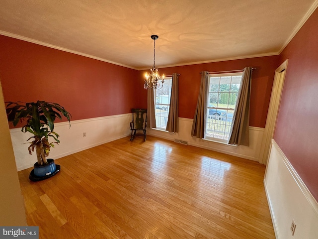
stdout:
POLYGON ((200 92, 198 96, 198 103, 197 108, 195 109, 193 123, 192 123, 192 130, 191 136, 195 136, 197 138, 204 138, 205 134, 205 108, 207 104, 207 97, 208 97, 208 71, 201 72, 201 86, 200 92))

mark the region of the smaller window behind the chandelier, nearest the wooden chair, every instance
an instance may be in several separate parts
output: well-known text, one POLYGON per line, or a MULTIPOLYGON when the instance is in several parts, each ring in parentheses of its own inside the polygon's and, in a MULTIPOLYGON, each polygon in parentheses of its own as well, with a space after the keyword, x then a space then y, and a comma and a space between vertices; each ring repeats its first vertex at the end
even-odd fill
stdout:
POLYGON ((156 127, 165 130, 168 121, 170 98, 172 89, 172 77, 164 79, 161 89, 154 91, 155 94, 155 113, 156 127))

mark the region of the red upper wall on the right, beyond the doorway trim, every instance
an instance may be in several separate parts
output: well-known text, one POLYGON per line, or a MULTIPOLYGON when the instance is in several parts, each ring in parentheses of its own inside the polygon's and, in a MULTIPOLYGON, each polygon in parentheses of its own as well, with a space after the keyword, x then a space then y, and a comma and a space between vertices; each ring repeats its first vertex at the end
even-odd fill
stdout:
POLYGON ((274 139, 318 201, 318 10, 280 55, 288 60, 274 139))

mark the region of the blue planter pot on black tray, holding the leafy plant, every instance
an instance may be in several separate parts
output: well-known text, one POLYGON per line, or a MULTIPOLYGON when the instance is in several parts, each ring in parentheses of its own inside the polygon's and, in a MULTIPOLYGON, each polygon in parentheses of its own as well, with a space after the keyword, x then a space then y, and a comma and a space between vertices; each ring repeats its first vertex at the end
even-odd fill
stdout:
POLYGON ((50 178, 61 170, 60 165, 55 164, 54 159, 48 158, 47 160, 48 164, 46 165, 39 165, 38 162, 34 164, 34 169, 29 176, 31 181, 40 181, 50 178))

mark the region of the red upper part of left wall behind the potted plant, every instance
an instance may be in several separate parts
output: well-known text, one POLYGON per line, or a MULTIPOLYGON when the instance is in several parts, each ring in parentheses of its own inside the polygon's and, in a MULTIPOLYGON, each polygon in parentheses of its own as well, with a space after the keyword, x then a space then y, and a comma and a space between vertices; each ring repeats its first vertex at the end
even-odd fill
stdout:
POLYGON ((138 79, 137 70, 0 35, 5 101, 59 103, 72 120, 126 114, 138 107, 138 79))

